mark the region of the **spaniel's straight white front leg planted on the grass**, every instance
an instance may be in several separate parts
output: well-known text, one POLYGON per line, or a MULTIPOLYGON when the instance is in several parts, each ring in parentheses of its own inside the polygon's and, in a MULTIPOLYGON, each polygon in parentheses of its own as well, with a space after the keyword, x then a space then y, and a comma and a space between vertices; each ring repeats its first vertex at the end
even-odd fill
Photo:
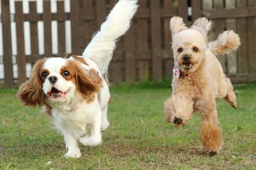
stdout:
POLYGON ((65 138, 67 153, 65 157, 67 158, 79 158, 81 156, 80 149, 78 148, 78 143, 76 138, 71 132, 62 131, 65 138))

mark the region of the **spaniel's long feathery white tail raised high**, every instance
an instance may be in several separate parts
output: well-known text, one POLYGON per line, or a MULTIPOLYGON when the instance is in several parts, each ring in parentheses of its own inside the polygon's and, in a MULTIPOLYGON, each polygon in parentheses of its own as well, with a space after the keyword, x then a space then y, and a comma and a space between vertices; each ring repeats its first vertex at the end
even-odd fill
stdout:
POLYGON ((129 29, 131 19, 138 9, 137 2, 138 0, 119 0, 83 52, 83 56, 97 64, 106 79, 116 41, 129 29))

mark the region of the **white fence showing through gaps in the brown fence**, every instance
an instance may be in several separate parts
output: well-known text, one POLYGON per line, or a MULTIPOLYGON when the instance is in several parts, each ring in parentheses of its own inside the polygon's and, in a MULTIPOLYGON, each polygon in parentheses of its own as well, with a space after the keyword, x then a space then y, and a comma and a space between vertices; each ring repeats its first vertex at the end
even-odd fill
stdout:
MULTIPOLYGON (((10 0, 10 13, 11 13, 11 44, 12 44, 12 63, 13 63, 13 77, 18 78, 18 67, 16 64, 17 55, 17 43, 16 43, 16 25, 14 22, 15 14, 15 1, 23 1, 23 11, 24 13, 29 13, 29 1, 37 1, 37 12, 43 12, 43 0, 10 0)), ((51 11, 52 13, 57 12, 57 0, 51 1, 51 11)), ((70 0, 65 1, 65 12, 70 12, 70 0)), ((0 13, 1 13, 1 1, 0 1, 0 13)), ((38 21, 38 48, 39 54, 44 54, 44 29, 43 22, 38 21)), ((25 34, 25 54, 31 54, 31 44, 30 44, 30 25, 29 22, 24 23, 24 34, 25 34)), ((66 30, 66 52, 71 53, 71 27, 70 21, 65 23, 66 30)), ((53 54, 58 54, 58 43, 57 43, 57 21, 52 21, 52 52, 53 54)), ((3 64, 3 32, 2 23, 0 21, 0 80, 4 79, 4 64, 3 64)), ((26 64, 26 76, 29 77, 31 71, 31 64, 26 64)))

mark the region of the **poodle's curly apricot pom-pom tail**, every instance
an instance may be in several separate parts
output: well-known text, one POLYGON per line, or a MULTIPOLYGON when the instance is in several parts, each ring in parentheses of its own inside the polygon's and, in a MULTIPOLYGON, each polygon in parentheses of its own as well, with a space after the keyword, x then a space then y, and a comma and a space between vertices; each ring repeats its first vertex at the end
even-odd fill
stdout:
POLYGON ((229 54, 232 50, 236 51, 240 46, 240 38, 233 31, 224 31, 217 40, 208 43, 208 48, 213 54, 229 54))

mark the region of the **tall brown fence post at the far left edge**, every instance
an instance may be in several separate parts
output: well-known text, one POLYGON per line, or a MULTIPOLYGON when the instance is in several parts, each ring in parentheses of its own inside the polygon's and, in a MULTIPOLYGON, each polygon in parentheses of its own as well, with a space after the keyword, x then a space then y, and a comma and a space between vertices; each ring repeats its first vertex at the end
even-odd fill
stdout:
POLYGON ((7 87, 14 86, 12 70, 12 44, 11 44, 11 21, 9 0, 1 0, 2 27, 3 27, 3 51, 4 51, 4 84, 7 87))

